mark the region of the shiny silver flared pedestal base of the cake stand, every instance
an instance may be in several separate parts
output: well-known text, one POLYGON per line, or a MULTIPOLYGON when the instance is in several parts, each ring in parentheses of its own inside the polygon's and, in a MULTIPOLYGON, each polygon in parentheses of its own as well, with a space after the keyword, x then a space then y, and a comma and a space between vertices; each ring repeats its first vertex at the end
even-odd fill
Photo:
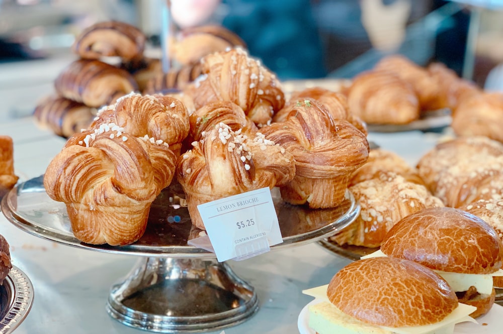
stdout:
POLYGON ((258 308, 254 288, 212 258, 141 257, 107 303, 119 322, 162 333, 234 326, 258 308))

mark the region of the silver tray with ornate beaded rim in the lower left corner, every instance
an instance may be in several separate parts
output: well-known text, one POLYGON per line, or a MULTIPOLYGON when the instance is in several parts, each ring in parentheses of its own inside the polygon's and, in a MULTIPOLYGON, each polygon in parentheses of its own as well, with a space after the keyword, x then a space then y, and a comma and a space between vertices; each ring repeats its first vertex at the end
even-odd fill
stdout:
POLYGON ((33 286, 25 273, 13 266, 0 285, 0 334, 11 333, 26 318, 33 303, 33 286))

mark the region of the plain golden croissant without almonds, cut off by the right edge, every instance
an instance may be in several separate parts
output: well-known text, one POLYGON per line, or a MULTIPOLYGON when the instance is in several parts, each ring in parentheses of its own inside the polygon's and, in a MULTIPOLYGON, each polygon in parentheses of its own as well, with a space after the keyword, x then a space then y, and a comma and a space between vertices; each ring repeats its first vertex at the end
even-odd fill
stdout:
POLYGON ((451 127, 458 136, 486 136, 503 142, 503 93, 464 96, 454 109, 451 127))

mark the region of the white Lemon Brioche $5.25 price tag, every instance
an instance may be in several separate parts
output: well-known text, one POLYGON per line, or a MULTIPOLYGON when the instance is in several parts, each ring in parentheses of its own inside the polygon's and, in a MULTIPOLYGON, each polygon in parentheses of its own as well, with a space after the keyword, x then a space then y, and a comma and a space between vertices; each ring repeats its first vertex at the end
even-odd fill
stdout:
MULTIPOLYGON (((283 242, 268 187, 200 204, 197 208, 220 262, 244 260, 283 242)), ((192 244, 197 246, 197 242, 192 244)))

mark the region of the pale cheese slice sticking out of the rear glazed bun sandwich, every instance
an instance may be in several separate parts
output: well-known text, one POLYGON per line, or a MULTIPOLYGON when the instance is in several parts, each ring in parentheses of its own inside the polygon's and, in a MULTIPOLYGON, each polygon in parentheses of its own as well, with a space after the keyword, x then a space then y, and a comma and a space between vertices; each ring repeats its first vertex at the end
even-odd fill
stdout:
MULTIPOLYGON (((372 254, 362 256, 362 259, 387 256, 381 250, 372 254)), ((480 294, 492 293, 492 276, 503 276, 503 270, 499 269, 491 274, 462 274, 434 270, 442 276, 455 292, 467 291, 470 286, 474 286, 480 294)))

